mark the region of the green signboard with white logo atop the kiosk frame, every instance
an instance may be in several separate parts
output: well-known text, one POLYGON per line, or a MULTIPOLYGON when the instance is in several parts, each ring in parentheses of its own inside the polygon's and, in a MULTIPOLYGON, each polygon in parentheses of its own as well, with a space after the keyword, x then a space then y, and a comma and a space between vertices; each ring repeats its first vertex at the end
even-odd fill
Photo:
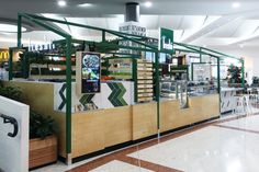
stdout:
POLYGON ((159 34, 159 50, 173 54, 173 31, 168 28, 160 28, 159 34))

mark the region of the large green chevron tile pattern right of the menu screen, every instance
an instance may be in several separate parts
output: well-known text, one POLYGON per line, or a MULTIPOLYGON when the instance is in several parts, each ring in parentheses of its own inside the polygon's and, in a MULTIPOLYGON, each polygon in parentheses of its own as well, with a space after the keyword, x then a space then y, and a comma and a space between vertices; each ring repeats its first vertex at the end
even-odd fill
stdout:
POLYGON ((112 93, 108 98, 108 100, 112 103, 112 105, 114 107, 127 105, 127 103, 123 99, 123 95, 126 92, 124 85, 120 82, 110 82, 106 84, 112 90, 112 93))

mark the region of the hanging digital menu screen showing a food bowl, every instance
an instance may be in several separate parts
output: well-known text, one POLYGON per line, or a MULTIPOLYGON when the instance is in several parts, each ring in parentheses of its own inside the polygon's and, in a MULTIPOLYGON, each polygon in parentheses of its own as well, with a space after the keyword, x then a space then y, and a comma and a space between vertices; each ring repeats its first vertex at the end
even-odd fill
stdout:
POLYGON ((82 53, 81 58, 81 93, 100 92, 100 54, 82 53))

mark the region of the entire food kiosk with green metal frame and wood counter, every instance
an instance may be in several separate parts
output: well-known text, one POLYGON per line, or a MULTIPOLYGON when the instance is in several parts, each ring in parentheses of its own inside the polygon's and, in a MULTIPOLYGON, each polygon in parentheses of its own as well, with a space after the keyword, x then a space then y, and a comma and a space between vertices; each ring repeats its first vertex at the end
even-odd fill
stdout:
MULTIPOLYGON (((19 79, 13 78, 11 62, 12 81, 5 84, 20 87, 31 108, 55 118, 59 156, 68 162, 221 115, 217 71, 222 55, 215 51, 173 43, 169 30, 157 41, 31 14, 20 16, 66 38, 53 42, 55 46, 26 48, 19 79), (100 31, 102 42, 71 39, 42 21, 100 31), (108 34, 116 39, 106 41, 108 34), (138 46, 124 46, 121 39, 138 46)), ((24 48, 20 34, 18 46, 24 48)))

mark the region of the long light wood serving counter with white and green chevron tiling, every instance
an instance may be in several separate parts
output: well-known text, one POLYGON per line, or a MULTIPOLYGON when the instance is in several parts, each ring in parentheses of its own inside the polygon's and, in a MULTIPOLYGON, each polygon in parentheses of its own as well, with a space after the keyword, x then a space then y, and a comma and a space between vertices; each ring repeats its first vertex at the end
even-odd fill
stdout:
MULTIPOLYGON (((60 101, 66 89, 64 83, 35 81, 5 83, 20 87, 23 91, 23 100, 30 104, 31 108, 41 114, 50 115, 56 119, 59 126, 59 156, 65 158, 66 114, 64 105, 63 108, 58 108, 64 104, 60 101)), ((156 102, 134 104, 132 82, 105 82, 101 87, 101 93, 97 93, 94 96, 79 98, 72 93, 72 158, 157 134, 156 102), (124 89, 121 88, 122 85, 124 89), (116 100, 114 101, 113 98, 116 100), (97 108, 78 111, 79 108, 76 106, 81 102, 92 102, 97 108)), ((72 90, 75 91, 75 83, 72 90)), ((181 108, 179 100, 161 101, 160 131, 177 129, 218 116, 218 94, 189 98, 188 108, 181 108)))

